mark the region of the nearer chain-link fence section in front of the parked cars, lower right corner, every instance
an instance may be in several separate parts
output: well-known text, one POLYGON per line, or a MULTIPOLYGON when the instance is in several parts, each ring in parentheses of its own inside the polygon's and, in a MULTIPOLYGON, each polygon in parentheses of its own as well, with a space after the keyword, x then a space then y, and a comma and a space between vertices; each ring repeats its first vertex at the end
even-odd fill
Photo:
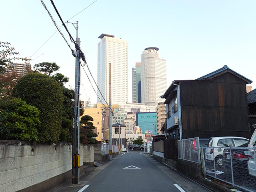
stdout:
POLYGON ((202 147, 204 173, 246 191, 256 191, 254 148, 202 147))

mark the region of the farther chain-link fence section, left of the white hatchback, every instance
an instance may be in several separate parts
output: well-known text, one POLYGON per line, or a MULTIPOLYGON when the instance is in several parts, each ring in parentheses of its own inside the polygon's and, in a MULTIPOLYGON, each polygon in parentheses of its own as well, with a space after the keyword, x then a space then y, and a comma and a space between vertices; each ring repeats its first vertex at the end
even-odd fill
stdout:
POLYGON ((199 137, 178 140, 178 158, 200 164, 199 137))

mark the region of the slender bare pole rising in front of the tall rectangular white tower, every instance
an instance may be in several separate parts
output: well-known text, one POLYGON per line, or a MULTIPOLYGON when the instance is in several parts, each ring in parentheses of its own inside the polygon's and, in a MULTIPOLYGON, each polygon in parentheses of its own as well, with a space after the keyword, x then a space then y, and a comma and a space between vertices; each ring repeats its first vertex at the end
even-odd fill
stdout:
POLYGON ((109 160, 112 160, 112 106, 111 106, 111 63, 109 63, 109 125, 108 125, 109 160))

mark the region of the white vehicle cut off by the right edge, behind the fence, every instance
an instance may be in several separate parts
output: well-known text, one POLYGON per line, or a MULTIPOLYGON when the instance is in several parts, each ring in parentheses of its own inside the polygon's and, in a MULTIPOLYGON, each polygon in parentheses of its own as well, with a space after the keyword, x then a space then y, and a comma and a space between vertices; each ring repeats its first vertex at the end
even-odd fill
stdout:
MULTIPOLYGON (((254 128, 256 128, 256 125, 253 125, 254 128)), ((255 166, 255 156, 254 154, 256 154, 254 152, 255 150, 255 146, 256 146, 256 129, 254 130, 252 137, 250 139, 250 142, 248 144, 248 171, 249 174, 252 176, 256 176, 256 166, 255 166)))

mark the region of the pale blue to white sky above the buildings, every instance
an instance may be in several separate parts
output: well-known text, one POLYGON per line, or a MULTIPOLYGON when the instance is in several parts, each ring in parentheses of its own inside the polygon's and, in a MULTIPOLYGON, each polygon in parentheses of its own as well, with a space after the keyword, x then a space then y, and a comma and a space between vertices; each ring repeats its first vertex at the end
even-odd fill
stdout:
MULTIPOLYGON (((158 47, 160 58, 166 59, 167 87, 173 80, 196 79, 227 65, 256 88, 255 0, 94 1, 54 0, 54 4, 64 21, 78 21, 80 47, 96 82, 98 36, 111 34, 128 42, 128 102, 132 102, 132 68, 147 47, 158 47)), ((60 27, 50 0, 44 3, 60 27)), ((75 58, 60 33, 54 34, 56 27, 41 1, 1 1, 0 7, 0 41, 10 42, 21 57, 31 58, 32 66, 56 62, 59 72, 70 78, 66 87, 74 88, 75 58)), ((76 38, 74 26, 67 27, 76 38)), ((60 29, 74 49, 67 32, 60 29)), ((82 69, 80 94, 81 100, 97 101, 82 69)))

